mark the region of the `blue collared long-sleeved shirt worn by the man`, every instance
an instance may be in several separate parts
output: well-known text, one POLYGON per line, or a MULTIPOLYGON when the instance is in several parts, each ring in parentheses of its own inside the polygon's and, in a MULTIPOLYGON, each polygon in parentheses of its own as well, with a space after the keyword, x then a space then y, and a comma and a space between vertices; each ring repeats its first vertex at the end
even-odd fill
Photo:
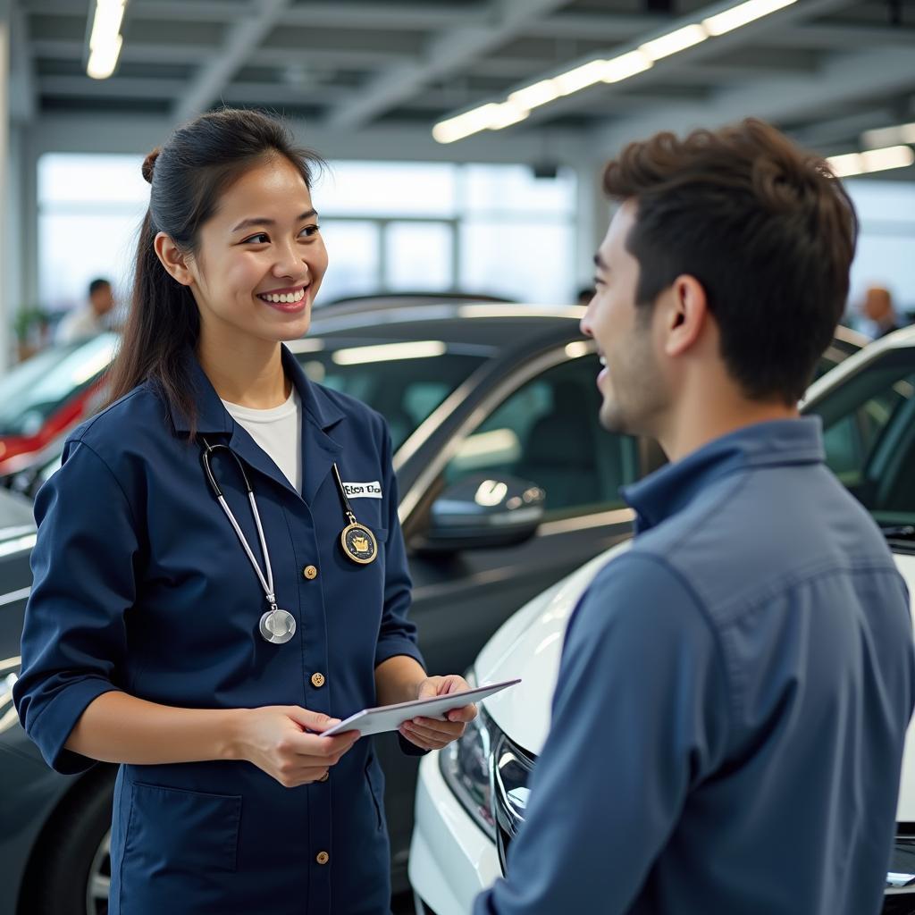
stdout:
POLYGON ((566 634, 508 879, 477 915, 876 913, 915 662, 909 600, 818 418, 626 492, 566 634))

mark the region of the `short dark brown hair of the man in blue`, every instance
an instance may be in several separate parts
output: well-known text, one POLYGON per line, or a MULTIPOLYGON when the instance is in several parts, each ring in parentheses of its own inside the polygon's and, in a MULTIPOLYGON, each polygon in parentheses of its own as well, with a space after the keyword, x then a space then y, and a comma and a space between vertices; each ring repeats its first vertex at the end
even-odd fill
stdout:
POLYGON ((842 317, 855 253, 855 208, 823 159, 751 118, 632 143, 604 190, 636 204, 626 248, 639 305, 694 276, 744 393, 796 403, 842 317))

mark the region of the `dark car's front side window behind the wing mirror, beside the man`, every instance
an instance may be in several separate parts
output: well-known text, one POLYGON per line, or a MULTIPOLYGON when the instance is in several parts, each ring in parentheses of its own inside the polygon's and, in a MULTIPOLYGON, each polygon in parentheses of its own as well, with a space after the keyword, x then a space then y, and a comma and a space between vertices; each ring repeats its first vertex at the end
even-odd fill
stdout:
POLYGON ((523 384, 460 444, 446 485, 510 474, 542 487, 554 516, 621 506, 619 487, 637 478, 638 451, 635 439, 600 427, 598 371, 597 356, 583 356, 523 384))

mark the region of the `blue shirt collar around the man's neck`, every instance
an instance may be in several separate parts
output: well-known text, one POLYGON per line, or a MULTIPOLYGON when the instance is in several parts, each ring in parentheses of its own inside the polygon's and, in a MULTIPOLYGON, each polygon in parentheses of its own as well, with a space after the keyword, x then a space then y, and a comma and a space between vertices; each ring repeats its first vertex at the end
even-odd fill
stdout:
POLYGON ((683 511, 702 490, 728 474, 753 467, 817 464, 824 458, 819 416, 770 420, 716 438, 622 492, 638 513, 636 531, 641 533, 683 511))

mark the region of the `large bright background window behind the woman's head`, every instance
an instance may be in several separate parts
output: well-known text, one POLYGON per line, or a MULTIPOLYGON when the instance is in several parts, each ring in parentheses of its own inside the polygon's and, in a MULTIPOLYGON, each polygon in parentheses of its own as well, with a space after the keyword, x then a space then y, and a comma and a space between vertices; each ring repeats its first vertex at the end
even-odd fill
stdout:
MULTIPOLYGON (((72 307, 98 275, 125 288, 149 199, 140 156, 38 162, 39 295, 72 307)), ((576 180, 526 166, 331 163, 312 197, 330 265, 319 302, 375 292, 573 299, 576 180)))

